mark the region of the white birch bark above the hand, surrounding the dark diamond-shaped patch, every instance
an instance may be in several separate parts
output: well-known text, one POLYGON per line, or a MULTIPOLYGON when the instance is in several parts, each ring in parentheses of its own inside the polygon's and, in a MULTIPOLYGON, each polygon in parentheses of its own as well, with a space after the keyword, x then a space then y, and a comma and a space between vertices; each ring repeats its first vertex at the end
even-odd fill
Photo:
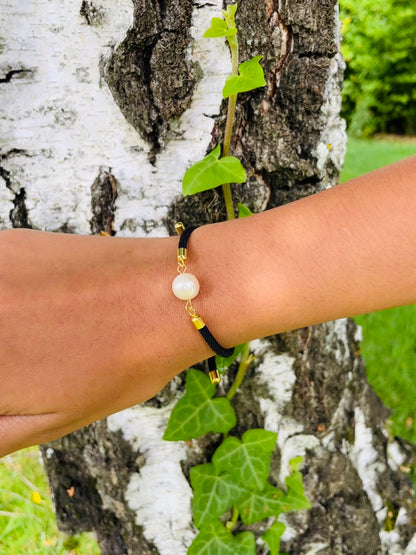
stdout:
MULTIPOLYGON (((166 234, 158 222, 181 194, 186 169, 205 155, 229 73, 223 42, 202 37, 221 6, 216 0, 194 9, 189 56, 203 78, 154 167, 149 146, 125 120, 100 73, 132 24, 132 2, 97 3, 104 14, 99 27, 86 23, 78 0, 61 0, 52 9, 47 1, 4 5, 0 78, 26 72, 0 84, 0 154, 13 192, 26 192, 32 227, 89 233, 91 185, 100 168, 111 168, 120 185, 118 235, 166 234), (150 232, 146 222, 152 222, 150 232)), ((0 222, 7 227, 13 194, 4 181, 0 199, 0 222)))

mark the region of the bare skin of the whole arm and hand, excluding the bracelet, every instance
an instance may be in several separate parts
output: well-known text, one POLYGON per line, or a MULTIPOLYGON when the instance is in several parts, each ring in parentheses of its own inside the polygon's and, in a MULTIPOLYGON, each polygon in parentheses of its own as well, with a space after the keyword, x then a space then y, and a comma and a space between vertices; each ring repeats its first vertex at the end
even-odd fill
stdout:
MULTIPOLYGON (((198 228, 195 308, 226 347, 416 302, 416 157, 198 228)), ((0 233, 0 456, 155 395, 212 353, 171 291, 177 238, 0 233)))

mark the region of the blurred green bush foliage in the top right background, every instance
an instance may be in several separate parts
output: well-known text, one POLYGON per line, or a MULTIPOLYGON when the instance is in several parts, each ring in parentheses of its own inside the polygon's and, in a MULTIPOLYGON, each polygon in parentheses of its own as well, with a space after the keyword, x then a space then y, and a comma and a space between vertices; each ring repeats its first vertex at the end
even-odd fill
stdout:
POLYGON ((349 132, 416 134, 416 1, 340 0, 349 132))

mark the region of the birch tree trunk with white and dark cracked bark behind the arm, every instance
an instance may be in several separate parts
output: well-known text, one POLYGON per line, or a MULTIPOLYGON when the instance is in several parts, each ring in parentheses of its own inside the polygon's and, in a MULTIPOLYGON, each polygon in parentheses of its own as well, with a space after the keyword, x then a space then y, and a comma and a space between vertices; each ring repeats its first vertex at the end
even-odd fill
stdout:
MULTIPOLYGON (((3 228, 137 237, 224 219, 216 192, 181 196, 185 170, 223 133, 229 55, 202 37, 221 0, 1 5, 3 228)), ((267 81, 241 95, 232 145, 248 170, 235 197, 257 212, 336 184, 346 142, 337 4, 241 0, 238 25, 241 60, 262 54, 267 81)), ((290 553, 416 553, 413 448, 386 432, 358 340, 346 319, 260 339, 234 399, 237 435, 278 433, 276 483, 305 457, 312 508, 282 519, 290 553)), ((183 384, 42 448, 62 530, 96 531, 103 554, 186 553, 189 468, 217 437, 162 440, 183 384)))

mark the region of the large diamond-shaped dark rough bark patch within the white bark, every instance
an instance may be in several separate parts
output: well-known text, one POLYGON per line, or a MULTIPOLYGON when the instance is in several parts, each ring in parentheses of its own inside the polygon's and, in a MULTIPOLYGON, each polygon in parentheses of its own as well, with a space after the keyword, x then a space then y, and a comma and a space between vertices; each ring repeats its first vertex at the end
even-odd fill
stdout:
POLYGON ((113 53, 105 78, 127 121, 151 145, 150 160, 163 149, 189 107, 196 66, 187 59, 191 0, 135 0, 134 23, 113 53))

